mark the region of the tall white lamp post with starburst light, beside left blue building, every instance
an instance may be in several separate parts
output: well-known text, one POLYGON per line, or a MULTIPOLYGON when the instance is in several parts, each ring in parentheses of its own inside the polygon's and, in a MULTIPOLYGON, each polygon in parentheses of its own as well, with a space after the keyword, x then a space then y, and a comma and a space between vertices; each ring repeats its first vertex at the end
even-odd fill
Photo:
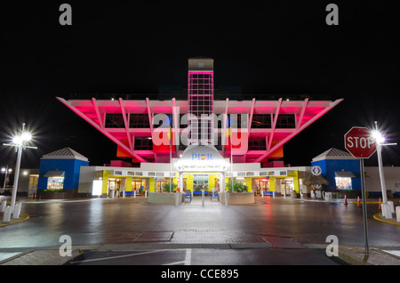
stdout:
POLYGON ((15 206, 15 198, 17 197, 18 190, 18 179, 20 178, 20 158, 22 156, 22 150, 25 149, 37 149, 36 147, 30 147, 25 144, 25 142, 29 142, 32 138, 32 135, 28 132, 24 132, 25 123, 22 124, 22 132, 20 135, 14 136, 12 138, 12 143, 3 143, 5 146, 12 146, 15 148, 15 151, 18 153, 17 155, 17 164, 15 165, 15 177, 14 184, 12 186, 12 200, 11 200, 11 211, 14 211, 15 206))

